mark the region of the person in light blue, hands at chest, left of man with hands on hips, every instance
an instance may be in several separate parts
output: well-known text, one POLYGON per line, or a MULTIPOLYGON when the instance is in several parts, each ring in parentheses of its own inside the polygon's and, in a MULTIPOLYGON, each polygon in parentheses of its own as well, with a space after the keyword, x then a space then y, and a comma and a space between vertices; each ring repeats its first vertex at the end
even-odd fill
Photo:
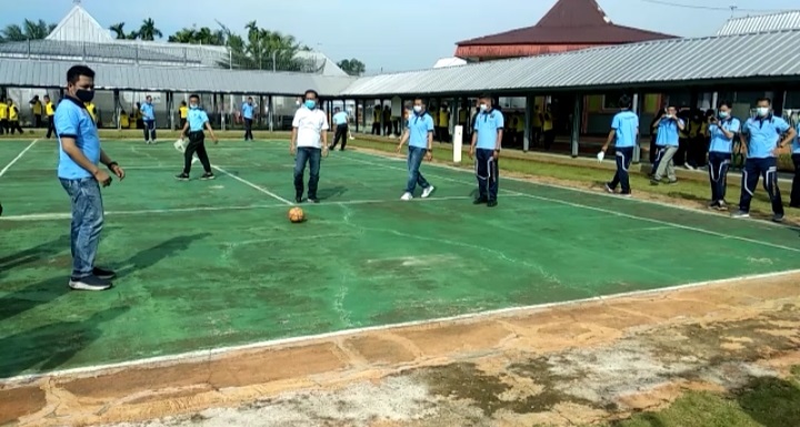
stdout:
POLYGON ((720 102, 718 118, 709 118, 709 180, 711 181, 711 202, 709 209, 728 211, 726 190, 728 187, 728 169, 733 153, 733 138, 741 129, 739 119, 731 115, 731 104, 720 102))

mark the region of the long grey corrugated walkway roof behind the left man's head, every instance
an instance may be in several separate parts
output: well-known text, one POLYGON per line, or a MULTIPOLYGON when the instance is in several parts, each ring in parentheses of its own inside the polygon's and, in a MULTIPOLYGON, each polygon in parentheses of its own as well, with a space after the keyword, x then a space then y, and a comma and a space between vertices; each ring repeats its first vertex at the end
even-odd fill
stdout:
MULTIPOLYGON (((60 88, 74 62, 3 60, 0 87, 60 88)), ((321 95, 338 95, 356 80, 309 73, 220 70, 211 68, 131 67, 88 63, 98 89, 297 95, 308 89, 321 95)))

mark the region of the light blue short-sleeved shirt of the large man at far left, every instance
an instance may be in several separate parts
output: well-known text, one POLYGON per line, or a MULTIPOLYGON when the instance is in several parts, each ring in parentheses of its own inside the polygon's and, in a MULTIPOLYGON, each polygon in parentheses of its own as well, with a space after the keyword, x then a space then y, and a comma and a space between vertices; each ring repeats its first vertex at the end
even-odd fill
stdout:
POLYGON ((72 138, 76 141, 78 150, 80 150, 92 164, 97 165, 100 163, 100 138, 97 133, 97 125, 91 115, 89 115, 89 111, 87 111, 82 102, 67 96, 59 103, 59 108, 56 109, 53 120, 56 135, 59 139, 59 177, 66 180, 91 177, 92 174, 76 163, 76 161, 63 151, 63 145, 61 144, 62 138, 72 138))

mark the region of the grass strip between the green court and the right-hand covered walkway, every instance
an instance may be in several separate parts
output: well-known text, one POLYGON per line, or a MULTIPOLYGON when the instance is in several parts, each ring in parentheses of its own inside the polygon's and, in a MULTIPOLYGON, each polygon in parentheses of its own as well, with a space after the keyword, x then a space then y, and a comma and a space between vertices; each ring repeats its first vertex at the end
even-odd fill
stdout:
MULTIPOLYGON (((371 149, 382 152, 393 153, 397 148, 398 141, 371 141, 371 140, 354 140, 349 141, 349 145, 360 146, 364 149, 371 149)), ((450 150, 433 150, 433 159, 440 163, 452 164, 452 153, 450 150)), ((500 169, 507 172, 520 173, 533 177, 548 177, 564 181, 564 184, 573 184, 578 186, 597 185, 598 187, 604 182, 611 181, 613 176, 613 170, 608 167, 597 167, 591 164, 569 164, 569 157, 563 159, 556 157, 553 161, 547 160, 532 160, 532 159, 511 159, 500 157, 500 169)), ((608 162, 607 162, 608 163, 608 162)), ((609 163, 610 164, 610 163, 609 163)), ((474 167, 474 163, 469 159, 468 155, 463 155, 462 169, 471 170, 474 167)), ((684 179, 680 180, 678 185, 650 185, 650 180, 644 173, 631 172, 631 187, 633 193, 648 193, 653 195, 660 195, 671 199, 679 199, 696 204, 698 209, 706 209, 706 203, 711 197, 711 189, 707 181, 699 181, 704 175, 697 174, 698 179, 684 179)), ((501 177, 502 181, 502 177, 501 177)), ((733 180, 738 181, 738 180, 733 180)), ((502 185, 502 184, 501 184, 502 185)), ((784 189, 784 192, 788 189, 784 189)), ((600 189, 598 189, 600 191, 600 189)), ((728 202, 733 203, 736 206, 739 202, 740 186, 738 182, 728 183, 728 202)), ((788 203, 788 201, 784 201, 788 203)), ((786 204, 784 203, 784 204, 786 204)), ((769 202, 769 197, 761 186, 756 193, 751 205, 751 213, 753 214, 771 214, 772 207, 769 202)), ((789 215, 791 211, 787 212, 789 215)), ((800 426, 800 425, 798 425, 800 426)))

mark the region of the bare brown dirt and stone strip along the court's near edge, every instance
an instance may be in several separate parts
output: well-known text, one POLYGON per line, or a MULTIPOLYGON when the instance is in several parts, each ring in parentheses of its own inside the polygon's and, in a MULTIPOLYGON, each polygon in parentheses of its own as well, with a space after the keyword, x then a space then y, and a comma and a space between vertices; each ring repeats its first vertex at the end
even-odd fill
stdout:
POLYGON ((0 389, 10 426, 571 426, 800 364, 800 273, 0 389))

